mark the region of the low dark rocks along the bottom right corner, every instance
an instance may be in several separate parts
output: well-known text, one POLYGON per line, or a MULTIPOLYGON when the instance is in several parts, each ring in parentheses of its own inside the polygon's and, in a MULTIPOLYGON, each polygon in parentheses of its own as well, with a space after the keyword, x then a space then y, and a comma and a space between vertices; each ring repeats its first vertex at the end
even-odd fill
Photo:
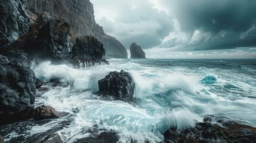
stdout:
POLYGON ((196 123, 186 130, 169 129, 163 142, 256 142, 256 128, 236 122, 225 122, 223 126, 209 122, 196 123))

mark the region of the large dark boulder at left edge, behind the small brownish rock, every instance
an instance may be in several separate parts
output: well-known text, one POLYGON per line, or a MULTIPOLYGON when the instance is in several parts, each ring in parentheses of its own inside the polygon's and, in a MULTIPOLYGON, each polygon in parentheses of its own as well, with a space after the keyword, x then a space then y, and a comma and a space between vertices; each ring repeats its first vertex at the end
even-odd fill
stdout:
POLYGON ((0 55, 0 125, 31 116, 36 94, 35 73, 0 55))

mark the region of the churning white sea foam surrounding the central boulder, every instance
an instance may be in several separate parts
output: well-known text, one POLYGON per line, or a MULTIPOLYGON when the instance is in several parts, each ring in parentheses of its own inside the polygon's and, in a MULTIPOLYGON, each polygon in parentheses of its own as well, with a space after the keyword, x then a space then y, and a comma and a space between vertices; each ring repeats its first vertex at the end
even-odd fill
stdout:
MULTIPOLYGON (((53 88, 38 98, 36 105, 51 105, 70 114, 73 121, 57 131, 66 142, 88 136, 85 130, 94 125, 118 132, 120 142, 159 142, 166 129, 189 128, 206 115, 225 116, 256 125, 251 116, 256 114, 255 101, 246 97, 256 97, 253 95, 255 85, 246 82, 238 73, 180 66, 160 68, 135 63, 137 61, 113 59, 109 66, 84 69, 53 66, 49 62, 39 64, 34 69, 38 78, 49 81, 52 76, 63 77, 66 82, 74 82, 74 86, 53 88), (122 69, 135 80, 135 105, 95 95, 99 79, 110 71, 122 69), (215 77, 215 81, 202 83, 208 75, 215 77)), ((248 78, 255 82, 254 77, 248 78)), ((65 117, 58 120, 65 120, 65 117)), ((53 126, 57 125, 53 123, 41 128, 47 130, 53 126)), ((30 132, 37 131, 33 128, 30 132)))

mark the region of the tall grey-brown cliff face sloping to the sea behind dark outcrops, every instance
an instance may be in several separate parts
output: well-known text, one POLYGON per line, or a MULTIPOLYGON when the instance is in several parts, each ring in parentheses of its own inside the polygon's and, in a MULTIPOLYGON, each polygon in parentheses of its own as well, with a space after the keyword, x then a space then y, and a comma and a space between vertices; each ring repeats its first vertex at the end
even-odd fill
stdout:
POLYGON ((32 20, 40 13, 63 17, 70 23, 70 34, 74 42, 78 36, 92 35, 99 39, 106 49, 106 57, 127 58, 125 47, 112 36, 106 35, 103 28, 95 23, 93 5, 90 0, 26 0, 29 15, 32 20))

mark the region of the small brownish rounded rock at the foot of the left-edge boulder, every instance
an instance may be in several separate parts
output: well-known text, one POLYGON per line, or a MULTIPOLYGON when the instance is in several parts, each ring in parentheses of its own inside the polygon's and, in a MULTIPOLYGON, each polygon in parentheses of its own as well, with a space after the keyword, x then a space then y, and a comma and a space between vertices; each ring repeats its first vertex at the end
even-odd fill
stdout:
POLYGON ((53 117, 61 117, 61 115, 55 111, 55 109, 48 105, 41 105, 36 107, 33 111, 33 119, 35 120, 44 120, 50 119, 53 117))

